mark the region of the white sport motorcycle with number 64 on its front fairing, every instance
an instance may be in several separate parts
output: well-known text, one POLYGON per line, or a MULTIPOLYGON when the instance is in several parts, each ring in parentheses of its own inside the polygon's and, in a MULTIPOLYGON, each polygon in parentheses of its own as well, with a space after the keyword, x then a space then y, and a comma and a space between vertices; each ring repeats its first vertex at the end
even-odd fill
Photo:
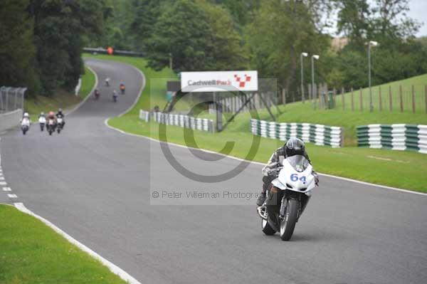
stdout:
POLYGON ((280 238, 289 241, 316 186, 315 174, 302 155, 288 157, 283 160, 283 167, 275 167, 278 178, 271 182, 267 199, 257 211, 266 235, 280 232, 280 238))

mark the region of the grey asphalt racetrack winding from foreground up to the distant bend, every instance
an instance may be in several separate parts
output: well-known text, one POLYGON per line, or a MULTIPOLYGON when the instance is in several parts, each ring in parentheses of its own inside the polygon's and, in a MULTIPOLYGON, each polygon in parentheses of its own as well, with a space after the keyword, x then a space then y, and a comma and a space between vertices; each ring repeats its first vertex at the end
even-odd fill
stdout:
MULTIPOLYGON (((18 198, 0 192, 0 201, 23 202, 141 283, 425 283, 427 196, 322 177, 290 242, 263 235, 254 200, 153 199, 154 191, 174 189, 259 191, 261 166, 248 164, 216 184, 182 176, 159 142, 105 126, 137 98, 137 70, 86 64, 100 79, 101 98, 65 117, 60 135, 49 137, 38 125, 25 137, 18 129, 1 135, 1 166, 18 198), (114 103, 112 88, 122 81, 126 95, 114 103)), ((170 148, 201 174, 240 163, 170 148)))

